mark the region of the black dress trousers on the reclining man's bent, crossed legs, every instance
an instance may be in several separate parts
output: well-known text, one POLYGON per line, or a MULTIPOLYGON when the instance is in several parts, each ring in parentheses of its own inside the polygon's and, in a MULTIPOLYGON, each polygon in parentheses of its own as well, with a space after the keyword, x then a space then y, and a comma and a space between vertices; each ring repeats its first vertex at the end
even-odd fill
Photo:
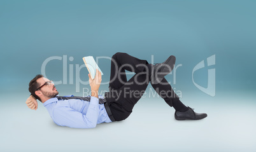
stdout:
MULTIPOLYGON (((150 83, 150 66, 146 60, 132 57, 127 53, 115 53, 111 59, 110 92, 105 93, 105 99, 110 106, 111 113, 116 121, 125 120, 131 113, 132 108, 145 93, 150 83), (125 70, 134 72, 129 81, 125 70)), ((155 91, 173 106, 173 101, 179 100, 171 85, 164 78, 161 83, 152 84, 155 91)))

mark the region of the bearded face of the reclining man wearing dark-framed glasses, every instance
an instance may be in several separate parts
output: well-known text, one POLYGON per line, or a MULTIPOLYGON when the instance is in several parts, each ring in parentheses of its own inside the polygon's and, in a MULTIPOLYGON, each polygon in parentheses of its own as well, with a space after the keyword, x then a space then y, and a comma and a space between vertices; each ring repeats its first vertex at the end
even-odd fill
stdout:
POLYGON ((46 78, 39 78, 36 80, 40 85, 42 86, 38 91, 41 91, 41 93, 48 98, 56 97, 56 95, 59 94, 57 89, 55 88, 53 83, 50 83, 50 85, 44 85, 46 82, 49 82, 49 79, 46 78), (43 86, 44 85, 44 86, 43 86))

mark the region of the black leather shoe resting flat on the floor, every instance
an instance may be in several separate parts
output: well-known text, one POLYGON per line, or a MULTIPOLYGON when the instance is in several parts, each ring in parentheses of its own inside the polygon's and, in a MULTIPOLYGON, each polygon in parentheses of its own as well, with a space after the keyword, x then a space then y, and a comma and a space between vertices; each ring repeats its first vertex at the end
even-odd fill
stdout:
POLYGON ((188 107, 188 111, 179 112, 175 111, 174 117, 176 120, 201 120, 206 118, 206 113, 195 113, 191 107, 188 107))

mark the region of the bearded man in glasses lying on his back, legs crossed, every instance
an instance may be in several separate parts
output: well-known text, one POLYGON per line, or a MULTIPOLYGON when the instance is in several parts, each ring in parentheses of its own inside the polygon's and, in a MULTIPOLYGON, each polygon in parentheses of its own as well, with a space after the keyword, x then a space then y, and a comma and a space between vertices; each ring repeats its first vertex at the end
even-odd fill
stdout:
POLYGON ((36 99, 40 100, 57 125, 94 128, 99 123, 125 120, 151 83, 160 97, 174 107, 176 120, 206 118, 206 113, 196 113, 185 106, 164 78, 173 70, 175 61, 176 58, 171 55, 161 64, 153 65, 127 53, 115 53, 111 59, 110 92, 104 93, 104 96, 98 94, 101 85, 101 73, 98 70, 94 79, 88 75, 91 95, 87 97, 59 96, 53 82, 38 74, 29 83, 31 96, 26 104, 31 109, 37 109, 36 99), (136 74, 127 81, 125 70, 136 74))

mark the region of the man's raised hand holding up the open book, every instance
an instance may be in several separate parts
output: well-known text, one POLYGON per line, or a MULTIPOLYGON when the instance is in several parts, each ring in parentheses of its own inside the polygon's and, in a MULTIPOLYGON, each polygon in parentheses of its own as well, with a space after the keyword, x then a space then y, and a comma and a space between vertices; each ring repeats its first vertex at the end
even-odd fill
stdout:
POLYGON ((90 90, 92 91, 92 96, 99 98, 98 90, 99 90, 99 86, 101 85, 101 72, 99 72, 99 70, 96 69, 96 76, 94 79, 90 78, 90 74, 88 74, 88 76, 89 76, 90 90))

